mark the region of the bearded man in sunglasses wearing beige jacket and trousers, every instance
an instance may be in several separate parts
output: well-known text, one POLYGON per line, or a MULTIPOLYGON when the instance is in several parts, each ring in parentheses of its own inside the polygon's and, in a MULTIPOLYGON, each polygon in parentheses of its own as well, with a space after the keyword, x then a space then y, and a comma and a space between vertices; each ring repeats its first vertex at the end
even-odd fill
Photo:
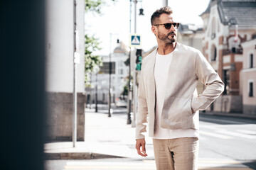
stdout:
POLYGON ((176 42, 179 23, 170 7, 151 16, 158 47, 142 62, 139 80, 136 149, 146 157, 149 124, 156 169, 197 169, 198 112, 223 92, 223 81, 199 50, 176 42), (198 79, 206 85, 197 96, 198 79))

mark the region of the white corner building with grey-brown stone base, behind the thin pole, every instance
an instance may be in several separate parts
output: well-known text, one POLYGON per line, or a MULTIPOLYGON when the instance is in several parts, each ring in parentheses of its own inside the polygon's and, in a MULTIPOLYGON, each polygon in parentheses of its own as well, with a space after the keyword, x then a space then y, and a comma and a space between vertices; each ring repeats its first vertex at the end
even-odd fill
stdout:
MULTIPOLYGON (((76 89, 78 92, 77 139, 85 140, 85 1, 76 0, 78 30, 76 89)), ((46 1, 46 140, 71 141, 73 136, 74 4, 69 0, 46 1)))

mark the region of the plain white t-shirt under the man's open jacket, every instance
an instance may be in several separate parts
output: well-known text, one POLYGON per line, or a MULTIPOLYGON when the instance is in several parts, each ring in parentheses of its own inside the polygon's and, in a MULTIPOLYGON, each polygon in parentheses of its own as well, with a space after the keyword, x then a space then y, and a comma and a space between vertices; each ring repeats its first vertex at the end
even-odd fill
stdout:
POLYGON ((161 111, 164 106, 164 95, 166 94, 166 82, 167 74, 173 59, 173 53, 171 52, 168 55, 159 55, 156 52, 156 63, 154 67, 154 79, 156 82, 156 117, 154 125, 154 139, 166 140, 166 139, 175 139, 180 137, 198 137, 199 132, 196 129, 178 129, 170 130, 160 127, 161 123, 161 111))

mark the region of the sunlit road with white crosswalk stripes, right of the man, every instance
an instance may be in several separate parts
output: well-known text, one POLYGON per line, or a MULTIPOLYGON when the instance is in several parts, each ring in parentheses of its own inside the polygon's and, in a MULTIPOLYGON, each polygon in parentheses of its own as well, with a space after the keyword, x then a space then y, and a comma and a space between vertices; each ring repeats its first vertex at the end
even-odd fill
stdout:
POLYGON ((199 157, 252 161, 256 159, 256 121, 200 115, 199 157))

